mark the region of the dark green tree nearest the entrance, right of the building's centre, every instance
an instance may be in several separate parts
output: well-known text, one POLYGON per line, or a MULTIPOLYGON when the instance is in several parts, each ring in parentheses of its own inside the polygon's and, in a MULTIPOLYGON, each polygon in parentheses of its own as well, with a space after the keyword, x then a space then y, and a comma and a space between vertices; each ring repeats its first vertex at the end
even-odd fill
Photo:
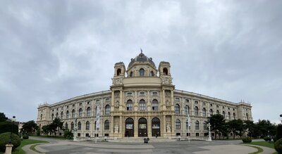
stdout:
POLYGON ((211 124, 211 130, 214 131, 215 139, 216 134, 225 132, 224 129, 226 128, 226 122, 223 115, 212 115, 211 117, 208 117, 207 121, 209 122, 209 124, 211 124))

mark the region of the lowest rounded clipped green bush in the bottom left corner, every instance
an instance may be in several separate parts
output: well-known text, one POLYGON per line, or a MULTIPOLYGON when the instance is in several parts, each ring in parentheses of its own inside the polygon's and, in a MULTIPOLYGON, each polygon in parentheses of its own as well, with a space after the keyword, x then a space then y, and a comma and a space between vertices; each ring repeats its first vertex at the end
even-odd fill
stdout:
MULTIPOLYGON (((11 136, 11 132, 0 134, 0 151, 5 152, 6 144, 8 143, 11 136)), ((20 146, 20 137, 17 134, 12 134, 13 150, 20 146)))

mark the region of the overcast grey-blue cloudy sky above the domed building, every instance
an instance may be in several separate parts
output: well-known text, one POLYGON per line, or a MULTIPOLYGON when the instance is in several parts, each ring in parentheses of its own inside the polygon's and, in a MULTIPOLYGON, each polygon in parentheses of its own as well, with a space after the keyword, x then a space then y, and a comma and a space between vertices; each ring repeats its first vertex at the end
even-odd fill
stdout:
POLYGON ((282 114, 282 1, 1 1, 0 113, 109 90, 114 63, 171 63, 176 89, 282 114))

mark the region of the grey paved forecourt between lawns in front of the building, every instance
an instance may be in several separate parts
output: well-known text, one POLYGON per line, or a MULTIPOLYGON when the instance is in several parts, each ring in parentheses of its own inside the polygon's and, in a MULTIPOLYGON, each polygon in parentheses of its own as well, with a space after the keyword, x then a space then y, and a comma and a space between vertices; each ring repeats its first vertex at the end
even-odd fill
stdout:
MULTIPOLYGON (((239 140, 235 141, 149 141, 145 144, 140 140, 140 143, 131 142, 104 142, 99 141, 95 143, 94 141, 87 142, 74 142, 69 140, 58 140, 58 139, 46 139, 31 137, 31 139, 38 139, 42 141, 49 141, 49 143, 44 143, 36 146, 36 150, 42 153, 50 154, 108 154, 108 153, 135 153, 135 154, 163 154, 163 153, 173 153, 173 154, 238 154, 238 153, 253 153, 257 151, 256 148, 250 146, 245 146, 241 144, 239 140)), ((136 141, 136 140, 135 140, 136 141)), ((138 140, 137 140, 138 141, 138 140)), ((37 154, 37 152, 30 150, 30 146, 27 145, 23 147, 27 153, 37 154)), ((253 146, 253 145, 252 145, 253 146)), ((272 148, 266 148, 259 146, 264 149, 262 154, 272 154, 275 152, 272 148)))

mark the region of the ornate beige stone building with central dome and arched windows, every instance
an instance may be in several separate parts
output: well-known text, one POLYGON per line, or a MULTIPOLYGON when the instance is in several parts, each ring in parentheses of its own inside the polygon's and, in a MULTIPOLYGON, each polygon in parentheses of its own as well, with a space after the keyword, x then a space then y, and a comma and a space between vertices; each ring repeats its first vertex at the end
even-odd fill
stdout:
POLYGON ((142 51, 130 60, 127 69, 123 62, 114 65, 110 87, 108 91, 39 105, 37 124, 42 128, 59 117, 65 129, 77 129, 81 137, 202 138, 208 132, 206 121, 210 115, 221 114, 226 120, 252 120, 250 103, 233 103, 175 89, 170 63, 162 61, 157 68, 142 51))

